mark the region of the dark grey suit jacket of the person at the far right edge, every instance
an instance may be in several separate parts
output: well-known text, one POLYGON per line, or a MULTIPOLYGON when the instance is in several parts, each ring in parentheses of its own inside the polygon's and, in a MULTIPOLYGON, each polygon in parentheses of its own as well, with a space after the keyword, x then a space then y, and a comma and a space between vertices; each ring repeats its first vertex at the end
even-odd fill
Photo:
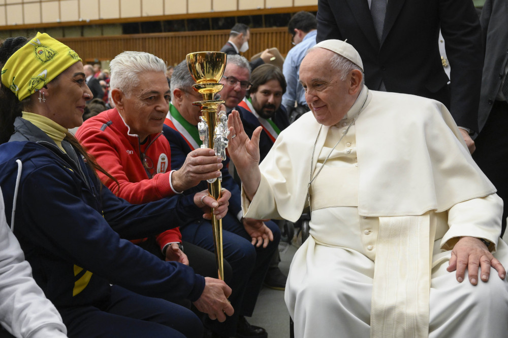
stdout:
POLYGON ((507 0, 486 0, 480 16, 485 43, 485 63, 483 66, 482 91, 478 124, 480 131, 485 126, 501 87, 502 74, 508 62, 508 19, 507 0))

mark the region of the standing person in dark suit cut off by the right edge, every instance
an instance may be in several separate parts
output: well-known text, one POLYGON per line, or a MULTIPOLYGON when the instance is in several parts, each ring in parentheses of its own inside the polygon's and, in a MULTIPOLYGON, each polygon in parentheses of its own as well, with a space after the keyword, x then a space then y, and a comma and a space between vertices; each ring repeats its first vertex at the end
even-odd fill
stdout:
POLYGON ((508 216, 508 18, 507 0, 486 0, 480 22, 485 43, 482 90, 473 159, 504 201, 501 236, 508 216))

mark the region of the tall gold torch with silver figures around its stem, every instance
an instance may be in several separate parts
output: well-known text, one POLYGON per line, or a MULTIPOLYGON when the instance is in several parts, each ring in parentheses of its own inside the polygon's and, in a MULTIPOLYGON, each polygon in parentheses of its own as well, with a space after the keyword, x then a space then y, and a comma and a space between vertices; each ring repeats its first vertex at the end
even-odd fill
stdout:
MULTIPOLYGON (((201 106, 201 117, 198 123, 200 139, 203 141, 202 148, 212 148, 215 155, 226 159, 226 147, 228 146, 228 124, 225 111, 217 114, 218 106, 224 103, 222 100, 214 100, 214 95, 223 89, 224 85, 218 83, 223 76, 226 67, 226 53, 221 52, 197 52, 186 56, 187 66, 196 84, 194 90, 203 95, 203 101, 193 102, 201 106)), ((218 200, 220 197, 220 181, 208 180, 210 196, 218 200)), ((212 213, 213 243, 215 245, 215 260, 217 273, 220 280, 224 280, 224 255, 222 238, 222 220, 217 219, 212 213)))

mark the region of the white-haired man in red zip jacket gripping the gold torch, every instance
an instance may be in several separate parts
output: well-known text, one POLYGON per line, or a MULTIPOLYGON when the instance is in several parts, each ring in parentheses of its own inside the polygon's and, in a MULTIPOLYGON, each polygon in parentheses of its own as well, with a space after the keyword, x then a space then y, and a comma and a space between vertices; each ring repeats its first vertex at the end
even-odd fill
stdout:
MULTIPOLYGON (((117 55, 110 67, 115 108, 86 120, 76 133, 89 154, 116 179, 98 172, 103 183, 117 196, 141 204, 169 197, 185 198, 181 195, 184 190, 217 177, 221 159, 210 149, 196 149, 179 170, 171 170, 171 148, 162 133, 170 97, 166 63, 149 53, 127 51, 117 55)), ((219 199, 218 203, 207 196, 199 207, 214 203, 215 213, 219 214, 220 209, 227 208, 229 196, 225 191, 226 200, 219 199)), ((193 216, 179 219, 178 225, 199 219, 202 214, 193 216)), ((178 228, 132 242, 167 261, 188 266, 190 260, 197 273, 216 276, 214 254, 191 243, 182 245, 178 228)), ((231 275, 229 265, 225 271, 231 275)), ((170 290, 168 298, 183 299, 170 290)))

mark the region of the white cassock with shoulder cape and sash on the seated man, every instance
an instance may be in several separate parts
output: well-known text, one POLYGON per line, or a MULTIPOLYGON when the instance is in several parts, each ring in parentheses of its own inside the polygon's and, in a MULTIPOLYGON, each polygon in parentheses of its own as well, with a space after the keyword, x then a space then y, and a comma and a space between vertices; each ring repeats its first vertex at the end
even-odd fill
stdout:
POLYGON ((491 268, 473 286, 467 272, 459 283, 446 271, 461 236, 491 242, 508 264, 502 201, 446 107, 363 87, 342 121, 320 127, 308 112, 283 131, 255 197, 242 201, 245 217, 296 221, 331 152, 310 186, 310 236, 285 289, 296 336, 508 336, 506 280, 491 268))

